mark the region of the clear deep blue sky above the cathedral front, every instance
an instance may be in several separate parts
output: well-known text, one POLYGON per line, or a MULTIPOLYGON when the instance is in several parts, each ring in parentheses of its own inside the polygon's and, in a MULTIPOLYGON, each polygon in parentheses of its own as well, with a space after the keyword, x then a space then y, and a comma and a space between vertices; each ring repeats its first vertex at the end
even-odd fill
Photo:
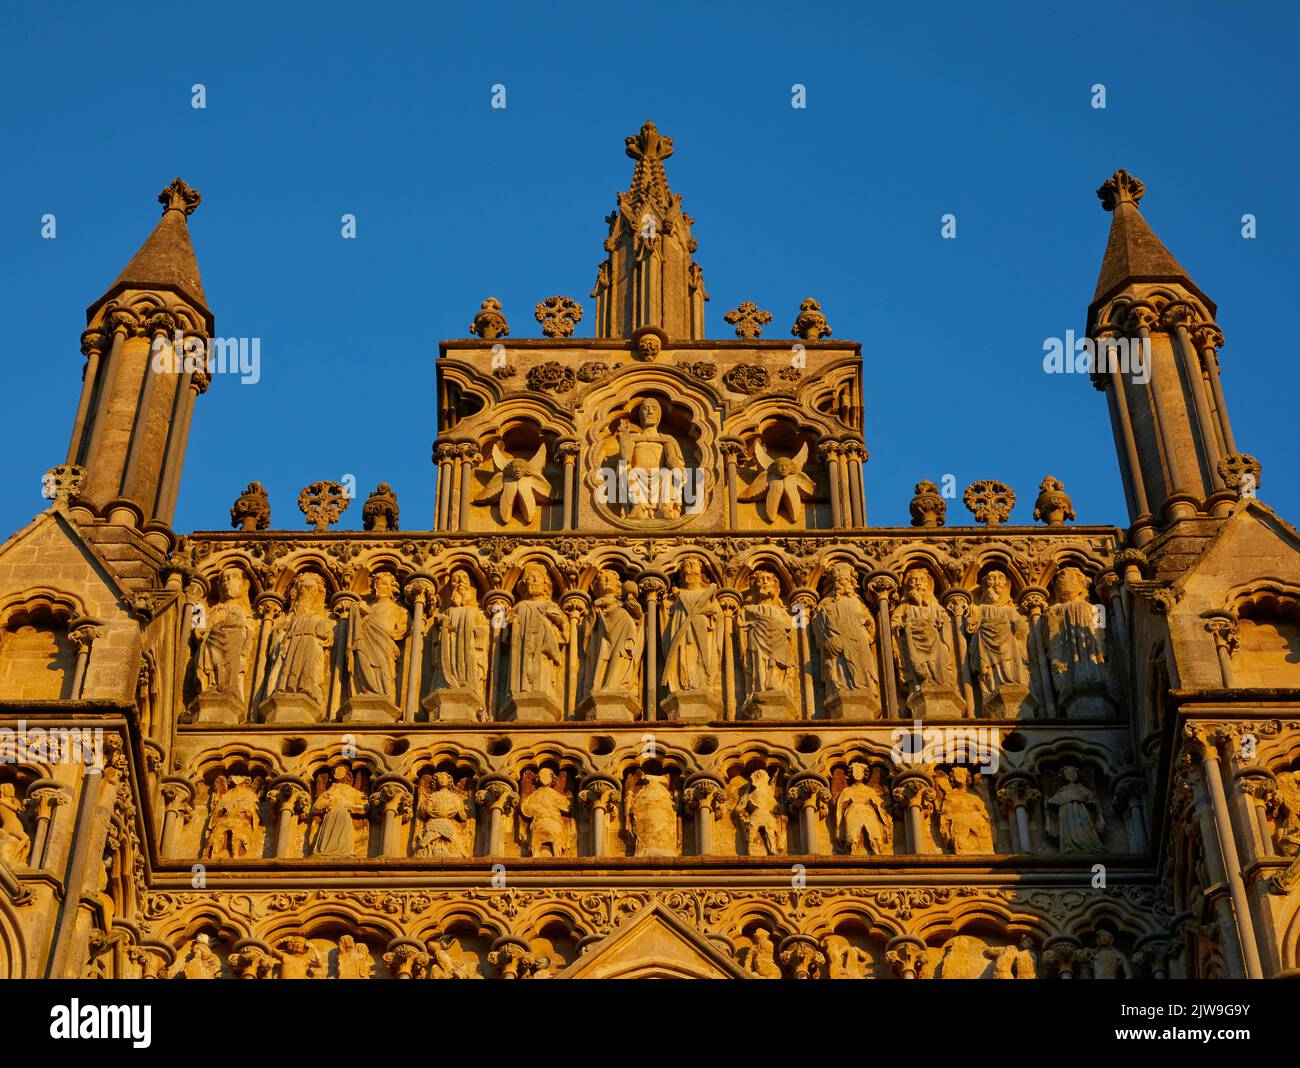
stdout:
MULTIPOLYGON (((6 4, 0 530, 44 507, 84 309, 176 175, 203 194, 217 334, 260 338, 263 362, 200 398, 177 529, 228 526, 251 479, 298 529, 299 489, 344 474, 363 495, 391 482, 403 526, 428 529, 437 340, 489 295, 516 338, 545 296, 592 304, 646 118, 675 140, 710 335, 750 299, 788 337, 811 295, 863 343, 874 524, 906 524, 916 479, 946 473, 1010 483, 1014 521, 1048 473, 1080 522, 1127 521, 1102 395, 1041 370, 1044 339, 1083 329, 1109 227, 1095 190, 1118 166, 1218 303, 1238 446, 1300 520, 1295 9, 1056 8, 6 4)), ((360 522, 354 504, 341 526, 360 522)))

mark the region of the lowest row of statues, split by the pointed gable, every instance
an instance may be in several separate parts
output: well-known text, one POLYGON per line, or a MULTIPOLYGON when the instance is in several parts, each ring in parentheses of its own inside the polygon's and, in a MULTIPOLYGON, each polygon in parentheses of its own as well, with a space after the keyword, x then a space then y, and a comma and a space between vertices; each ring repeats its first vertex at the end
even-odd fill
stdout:
MULTIPOLYGON (((351 934, 338 935, 325 948, 324 939, 290 934, 274 945, 240 943, 226 954, 229 974, 238 978, 376 978, 376 952, 351 934)), ((741 969, 751 978, 991 978, 1032 980, 1045 976, 1113 980, 1134 978, 1135 963, 1115 945, 1106 929, 1097 930, 1092 946, 1060 942, 1036 951, 1034 939, 1022 934, 1009 943, 989 945, 971 934, 958 934, 941 946, 904 942, 888 951, 870 952, 845 934, 823 939, 796 935, 777 943, 766 928, 755 928, 737 954, 741 969), (1046 965, 1046 967, 1044 967, 1046 965)), ((523 939, 502 939, 488 952, 462 950, 448 935, 426 941, 399 939, 381 952, 391 978, 477 980, 490 965, 500 978, 552 978, 564 961, 534 951, 523 939)), ((1141 956, 1139 954, 1138 956, 1141 956)), ((161 978, 161 961, 140 952, 146 978, 161 978)), ((212 980, 226 973, 212 937, 196 934, 166 969, 168 978, 212 980)))

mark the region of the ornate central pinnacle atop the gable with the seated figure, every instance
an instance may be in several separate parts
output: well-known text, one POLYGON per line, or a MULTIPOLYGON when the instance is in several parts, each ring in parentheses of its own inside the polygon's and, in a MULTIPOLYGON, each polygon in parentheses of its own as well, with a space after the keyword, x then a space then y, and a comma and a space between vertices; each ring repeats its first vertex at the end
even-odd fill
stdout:
POLYGON ((595 335, 630 338, 644 326, 658 326, 671 338, 702 338, 708 295, 703 270, 692 259, 694 220, 668 188, 663 166, 672 155, 672 138, 646 122, 625 146, 636 166, 632 184, 606 218, 608 255, 597 268, 592 291, 595 335))

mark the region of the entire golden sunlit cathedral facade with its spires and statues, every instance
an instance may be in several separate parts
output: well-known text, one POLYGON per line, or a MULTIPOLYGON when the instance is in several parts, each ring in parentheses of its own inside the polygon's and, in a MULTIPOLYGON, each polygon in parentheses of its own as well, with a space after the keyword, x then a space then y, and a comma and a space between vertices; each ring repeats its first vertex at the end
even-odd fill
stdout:
POLYGON ((1088 311, 1128 524, 1044 472, 1040 525, 982 479, 879 528, 861 346, 710 339, 672 139, 625 148, 594 304, 442 342, 426 530, 334 482, 172 530, 209 370, 155 357, 213 316, 164 190, 0 546, 0 976, 1295 971, 1300 537, 1141 183, 1088 311))

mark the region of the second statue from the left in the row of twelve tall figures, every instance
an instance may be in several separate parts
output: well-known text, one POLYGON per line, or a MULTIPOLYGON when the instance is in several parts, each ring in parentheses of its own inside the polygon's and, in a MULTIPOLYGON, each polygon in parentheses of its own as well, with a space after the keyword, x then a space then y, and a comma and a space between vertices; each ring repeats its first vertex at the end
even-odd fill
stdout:
POLYGON ((263 718, 269 724, 309 724, 325 711, 326 664, 334 625, 325 612, 325 582, 307 572, 294 579, 289 613, 270 635, 263 718))

